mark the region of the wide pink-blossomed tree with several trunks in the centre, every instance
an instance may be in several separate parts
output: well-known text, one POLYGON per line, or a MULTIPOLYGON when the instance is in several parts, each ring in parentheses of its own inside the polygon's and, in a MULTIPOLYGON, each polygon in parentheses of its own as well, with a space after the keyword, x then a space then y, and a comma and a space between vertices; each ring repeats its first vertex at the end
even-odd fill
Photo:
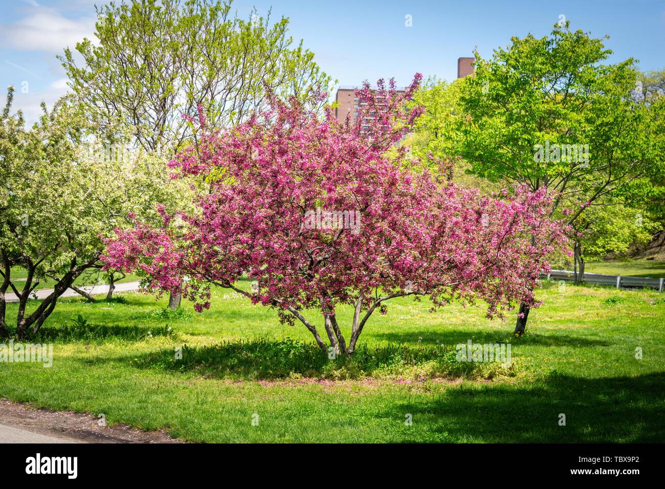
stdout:
POLYGON ((404 104, 420 79, 403 93, 364 84, 355 124, 275 97, 226 132, 199 114, 198 143, 170 163, 176 177, 198 178, 196 212, 162 210, 160 228, 118 230, 102 259, 142 273, 150 289, 183 293, 197 311, 209 307, 211 286, 233 289, 348 355, 395 297, 484 303, 489 317, 537 306, 546 255, 564 240, 545 190, 481 196, 454 186, 448 168, 415 171, 405 148, 388 151, 422 114, 404 104), (239 287, 243 274, 251 290, 239 287), (343 306, 354 311, 350 325, 337 322, 343 306))

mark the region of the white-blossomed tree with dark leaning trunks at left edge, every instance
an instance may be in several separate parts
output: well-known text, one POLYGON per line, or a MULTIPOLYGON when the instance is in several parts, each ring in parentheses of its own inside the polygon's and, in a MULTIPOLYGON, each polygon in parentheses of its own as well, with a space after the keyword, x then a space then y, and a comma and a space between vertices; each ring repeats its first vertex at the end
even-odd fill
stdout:
POLYGON ((98 158, 82 150, 93 136, 85 115, 62 98, 29 130, 12 114, 13 87, 0 117, 0 336, 39 330, 77 277, 99 266, 102 238, 128 224, 130 213, 151 220, 154 199, 174 202, 159 158, 98 158), (21 280, 13 270, 22 268, 21 280), (29 301, 47 279, 53 291, 29 301), (15 324, 7 293, 18 297, 15 324), (13 321, 12 321, 13 322, 13 321))

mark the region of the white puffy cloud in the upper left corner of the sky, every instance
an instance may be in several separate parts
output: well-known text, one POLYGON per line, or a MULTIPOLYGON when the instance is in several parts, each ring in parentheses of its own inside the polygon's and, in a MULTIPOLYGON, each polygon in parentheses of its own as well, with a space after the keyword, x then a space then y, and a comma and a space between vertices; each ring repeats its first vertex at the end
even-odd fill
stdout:
POLYGON ((84 37, 93 39, 94 22, 94 17, 67 19, 53 9, 39 7, 14 23, 0 26, 0 47, 62 53, 66 47, 73 49, 84 37))

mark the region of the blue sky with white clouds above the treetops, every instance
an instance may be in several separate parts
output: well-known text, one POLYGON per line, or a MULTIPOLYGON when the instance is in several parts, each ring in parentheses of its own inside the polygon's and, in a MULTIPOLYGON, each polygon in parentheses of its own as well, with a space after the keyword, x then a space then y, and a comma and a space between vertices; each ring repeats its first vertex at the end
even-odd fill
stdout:
MULTIPOLYGON (((17 87, 15 108, 32 120, 39 103, 52 104, 66 87, 56 55, 94 33, 100 0, 0 0, 0 86, 17 87), (23 93, 21 88, 24 88, 23 93)), ((291 19, 291 34, 304 39, 324 71, 340 84, 395 77, 408 84, 416 71, 454 79, 458 57, 477 49, 489 57, 513 35, 543 36, 559 15, 573 29, 609 35, 611 61, 628 57, 640 68, 665 68, 665 0, 577 1, 327 1, 239 0, 239 15, 252 6, 291 19), (406 27, 405 16, 412 18, 406 27)))

